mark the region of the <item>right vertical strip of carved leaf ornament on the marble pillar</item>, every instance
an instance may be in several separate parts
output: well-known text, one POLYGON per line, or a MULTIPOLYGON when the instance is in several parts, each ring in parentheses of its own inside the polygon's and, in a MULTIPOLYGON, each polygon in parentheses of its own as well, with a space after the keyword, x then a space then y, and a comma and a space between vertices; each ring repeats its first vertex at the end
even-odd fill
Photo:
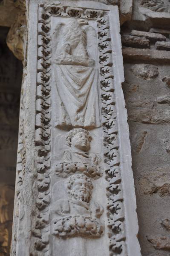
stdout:
POLYGON ((104 161, 107 185, 107 216, 110 255, 126 255, 124 204, 121 186, 118 126, 113 84, 112 47, 109 17, 98 19, 98 47, 102 124, 104 133, 104 161))

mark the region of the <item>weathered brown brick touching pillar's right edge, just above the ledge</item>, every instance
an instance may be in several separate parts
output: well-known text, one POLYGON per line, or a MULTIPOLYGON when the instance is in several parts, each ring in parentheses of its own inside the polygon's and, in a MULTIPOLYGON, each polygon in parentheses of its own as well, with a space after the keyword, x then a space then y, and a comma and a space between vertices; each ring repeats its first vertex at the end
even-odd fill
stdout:
POLYGON ((122 45, 127 47, 136 47, 136 48, 149 48, 150 41, 144 37, 138 37, 133 35, 122 35, 121 36, 122 45))

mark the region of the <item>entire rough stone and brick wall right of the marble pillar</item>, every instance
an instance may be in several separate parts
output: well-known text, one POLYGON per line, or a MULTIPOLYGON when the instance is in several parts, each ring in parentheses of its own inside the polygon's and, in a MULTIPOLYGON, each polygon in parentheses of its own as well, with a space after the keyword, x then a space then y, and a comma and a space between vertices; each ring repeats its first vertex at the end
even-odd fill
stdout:
POLYGON ((121 28, 142 256, 170 253, 170 20, 167 1, 133 1, 121 28))

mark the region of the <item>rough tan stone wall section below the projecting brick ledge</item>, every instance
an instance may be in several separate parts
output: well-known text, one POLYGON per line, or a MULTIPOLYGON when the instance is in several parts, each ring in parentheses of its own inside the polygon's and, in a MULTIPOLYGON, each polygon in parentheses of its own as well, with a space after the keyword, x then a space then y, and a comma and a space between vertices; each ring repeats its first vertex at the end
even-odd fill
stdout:
POLYGON ((170 88, 162 79, 170 67, 125 63, 124 68, 142 256, 165 256, 170 246, 170 88), (156 241, 150 243, 153 236, 156 241))

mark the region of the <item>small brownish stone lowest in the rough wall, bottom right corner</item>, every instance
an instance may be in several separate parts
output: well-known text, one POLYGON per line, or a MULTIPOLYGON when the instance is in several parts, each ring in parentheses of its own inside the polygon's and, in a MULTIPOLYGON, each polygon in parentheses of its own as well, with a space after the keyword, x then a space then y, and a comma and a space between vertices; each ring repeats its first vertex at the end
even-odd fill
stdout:
POLYGON ((170 238, 167 236, 147 236, 147 240, 158 250, 170 250, 170 238))

